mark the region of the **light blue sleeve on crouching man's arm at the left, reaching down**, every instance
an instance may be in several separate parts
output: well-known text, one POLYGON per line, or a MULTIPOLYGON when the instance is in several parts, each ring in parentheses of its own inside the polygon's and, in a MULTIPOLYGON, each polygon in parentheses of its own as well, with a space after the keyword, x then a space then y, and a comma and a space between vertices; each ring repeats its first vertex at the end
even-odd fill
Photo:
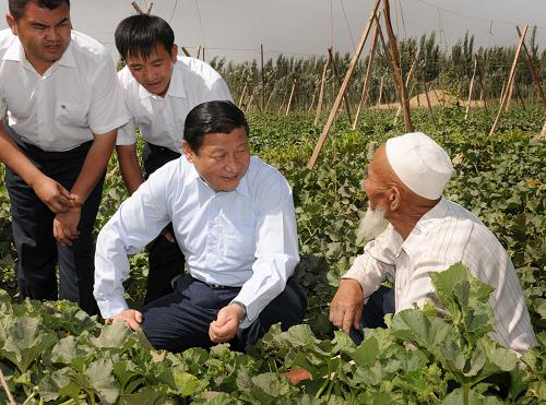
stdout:
POLYGON ((128 254, 139 252, 170 222, 167 190, 171 176, 165 171, 154 172, 139 187, 98 234, 93 294, 105 319, 128 308, 122 285, 129 274, 128 254))

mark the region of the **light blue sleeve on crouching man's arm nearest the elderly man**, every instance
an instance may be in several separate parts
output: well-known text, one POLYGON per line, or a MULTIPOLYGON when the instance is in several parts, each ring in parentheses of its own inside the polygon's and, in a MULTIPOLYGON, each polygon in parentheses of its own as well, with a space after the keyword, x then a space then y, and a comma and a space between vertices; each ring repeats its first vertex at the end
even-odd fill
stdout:
POLYGON ((274 181, 263 181, 258 199, 252 276, 234 299, 247 307, 241 329, 248 327, 284 290, 286 281, 299 262, 296 214, 287 181, 281 175, 274 181))

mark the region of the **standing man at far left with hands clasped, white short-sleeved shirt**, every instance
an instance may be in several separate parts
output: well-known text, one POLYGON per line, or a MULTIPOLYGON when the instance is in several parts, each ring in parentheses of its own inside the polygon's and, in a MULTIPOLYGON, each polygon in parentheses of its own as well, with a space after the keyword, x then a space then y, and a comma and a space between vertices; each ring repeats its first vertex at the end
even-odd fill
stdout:
POLYGON ((127 122, 114 61, 71 31, 69 0, 10 0, 0 32, 0 162, 7 166, 21 298, 98 312, 93 225, 117 128, 127 122), (55 238, 54 238, 55 236, 55 238), (56 242, 57 239, 57 242, 56 242))

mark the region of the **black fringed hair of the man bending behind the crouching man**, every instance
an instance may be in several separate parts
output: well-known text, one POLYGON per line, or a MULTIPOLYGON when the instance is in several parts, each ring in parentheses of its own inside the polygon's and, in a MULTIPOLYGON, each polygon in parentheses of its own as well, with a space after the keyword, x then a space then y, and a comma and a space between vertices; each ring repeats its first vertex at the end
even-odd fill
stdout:
POLYGON ((123 19, 116 28, 116 48, 123 59, 141 57, 147 59, 158 45, 169 55, 175 45, 175 33, 170 25, 157 15, 136 14, 123 19))

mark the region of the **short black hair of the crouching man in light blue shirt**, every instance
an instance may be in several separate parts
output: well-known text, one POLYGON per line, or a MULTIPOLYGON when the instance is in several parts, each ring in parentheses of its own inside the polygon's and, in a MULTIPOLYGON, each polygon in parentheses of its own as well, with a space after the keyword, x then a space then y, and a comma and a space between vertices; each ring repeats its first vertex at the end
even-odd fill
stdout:
POLYGON ((245 128, 248 136, 248 122, 245 114, 232 102, 206 102, 193 107, 186 117, 183 140, 199 154, 203 138, 207 133, 230 133, 245 128))

